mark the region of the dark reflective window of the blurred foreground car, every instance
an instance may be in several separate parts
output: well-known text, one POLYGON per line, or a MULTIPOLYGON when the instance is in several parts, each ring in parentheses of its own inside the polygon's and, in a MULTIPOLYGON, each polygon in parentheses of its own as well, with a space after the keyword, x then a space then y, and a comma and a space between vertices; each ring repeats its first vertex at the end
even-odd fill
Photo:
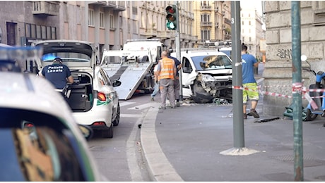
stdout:
POLYGON ((1 181, 85 181, 76 137, 62 119, 14 108, 0 115, 1 181))

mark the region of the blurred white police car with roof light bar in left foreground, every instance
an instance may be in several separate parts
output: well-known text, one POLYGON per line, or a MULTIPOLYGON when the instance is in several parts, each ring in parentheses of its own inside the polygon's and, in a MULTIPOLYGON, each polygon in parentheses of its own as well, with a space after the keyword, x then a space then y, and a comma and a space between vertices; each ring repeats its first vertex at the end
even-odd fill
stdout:
POLYGON ((92 130, 79 125, 83 136, 64 98, 47 80, 19 72, 19 63, 36 52, 0 48, 0 181, 105 180, 84 138, 92 130))

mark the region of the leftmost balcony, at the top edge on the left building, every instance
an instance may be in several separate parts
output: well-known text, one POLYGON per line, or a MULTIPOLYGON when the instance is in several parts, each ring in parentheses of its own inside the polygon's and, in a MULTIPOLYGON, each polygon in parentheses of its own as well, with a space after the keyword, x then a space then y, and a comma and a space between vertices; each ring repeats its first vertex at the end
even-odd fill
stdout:
POLYGON ((59 15, 59 1, 32 1, 33 15, 59 15))

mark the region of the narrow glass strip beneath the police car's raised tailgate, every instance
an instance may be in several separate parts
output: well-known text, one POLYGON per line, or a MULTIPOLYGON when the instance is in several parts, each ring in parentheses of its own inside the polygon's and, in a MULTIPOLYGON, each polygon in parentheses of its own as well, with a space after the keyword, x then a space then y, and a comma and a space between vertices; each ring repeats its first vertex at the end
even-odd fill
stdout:
POLYGON ((53 62, 54 58, 61 58, 63 62, 90 62, 90 57, 84 53, 56 52, 42 56, 42 61, 53 62))

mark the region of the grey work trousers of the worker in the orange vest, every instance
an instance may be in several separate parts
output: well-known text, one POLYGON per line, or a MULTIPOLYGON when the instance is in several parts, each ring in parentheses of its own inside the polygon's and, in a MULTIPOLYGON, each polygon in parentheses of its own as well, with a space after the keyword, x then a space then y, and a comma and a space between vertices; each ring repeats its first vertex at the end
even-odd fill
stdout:
POLYGON ((170 106, 175 107, 175 92, 174 92, 174 80, 161 79, 160 84, 160 100, 161 106, 166 106, 166 97, 170 100, 170 106))

